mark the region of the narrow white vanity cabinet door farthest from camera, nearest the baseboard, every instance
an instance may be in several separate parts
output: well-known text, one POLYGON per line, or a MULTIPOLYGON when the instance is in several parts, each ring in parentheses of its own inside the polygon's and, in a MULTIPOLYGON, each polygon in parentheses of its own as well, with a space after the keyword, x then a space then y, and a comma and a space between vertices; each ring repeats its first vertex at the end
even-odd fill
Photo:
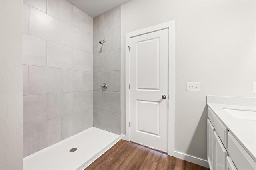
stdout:
POLYGON ((210 170, 213 170, 213 132, 214 127, 210 119, 207 119, 207 158, 210 170))

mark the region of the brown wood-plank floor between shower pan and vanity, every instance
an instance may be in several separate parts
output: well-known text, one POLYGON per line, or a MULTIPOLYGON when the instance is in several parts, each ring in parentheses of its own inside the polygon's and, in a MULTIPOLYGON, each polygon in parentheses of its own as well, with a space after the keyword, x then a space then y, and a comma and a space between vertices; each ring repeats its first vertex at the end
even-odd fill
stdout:
POLYGON ((120 140, 85 170, 209 170, 144 146, 120 140))

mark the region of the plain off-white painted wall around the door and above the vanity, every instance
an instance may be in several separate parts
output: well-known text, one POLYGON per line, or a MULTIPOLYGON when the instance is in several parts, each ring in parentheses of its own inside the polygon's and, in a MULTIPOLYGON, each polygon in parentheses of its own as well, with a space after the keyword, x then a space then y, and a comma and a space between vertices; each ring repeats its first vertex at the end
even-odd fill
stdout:
POLYGON ((206 160, 206 95, 256 97, 256 2, 132 0, 121 20, 121 133, 125 34, 176 20, 175 150, 206 160), (201 91, 187 92, 190 81, 201 82, 201 91))

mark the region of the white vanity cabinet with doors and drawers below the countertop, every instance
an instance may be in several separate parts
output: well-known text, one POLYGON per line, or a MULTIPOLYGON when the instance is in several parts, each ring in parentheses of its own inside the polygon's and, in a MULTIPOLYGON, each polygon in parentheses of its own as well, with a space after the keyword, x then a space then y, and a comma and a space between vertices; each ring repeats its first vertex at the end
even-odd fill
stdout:
POLYGON ((210 170, 256 170, 256 161, 208 107, 207 158, 210 170))

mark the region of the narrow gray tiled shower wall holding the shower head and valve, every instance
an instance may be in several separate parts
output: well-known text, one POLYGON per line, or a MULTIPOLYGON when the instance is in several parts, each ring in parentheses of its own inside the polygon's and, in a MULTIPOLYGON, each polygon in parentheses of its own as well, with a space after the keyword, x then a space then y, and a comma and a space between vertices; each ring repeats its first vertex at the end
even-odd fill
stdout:
POLYGON ((120 134, 120 26, 120 6, 93 18, 93 126, 116 134, 120 134), (106 91, 101 90, 102 83, 108 84, 106 91))

